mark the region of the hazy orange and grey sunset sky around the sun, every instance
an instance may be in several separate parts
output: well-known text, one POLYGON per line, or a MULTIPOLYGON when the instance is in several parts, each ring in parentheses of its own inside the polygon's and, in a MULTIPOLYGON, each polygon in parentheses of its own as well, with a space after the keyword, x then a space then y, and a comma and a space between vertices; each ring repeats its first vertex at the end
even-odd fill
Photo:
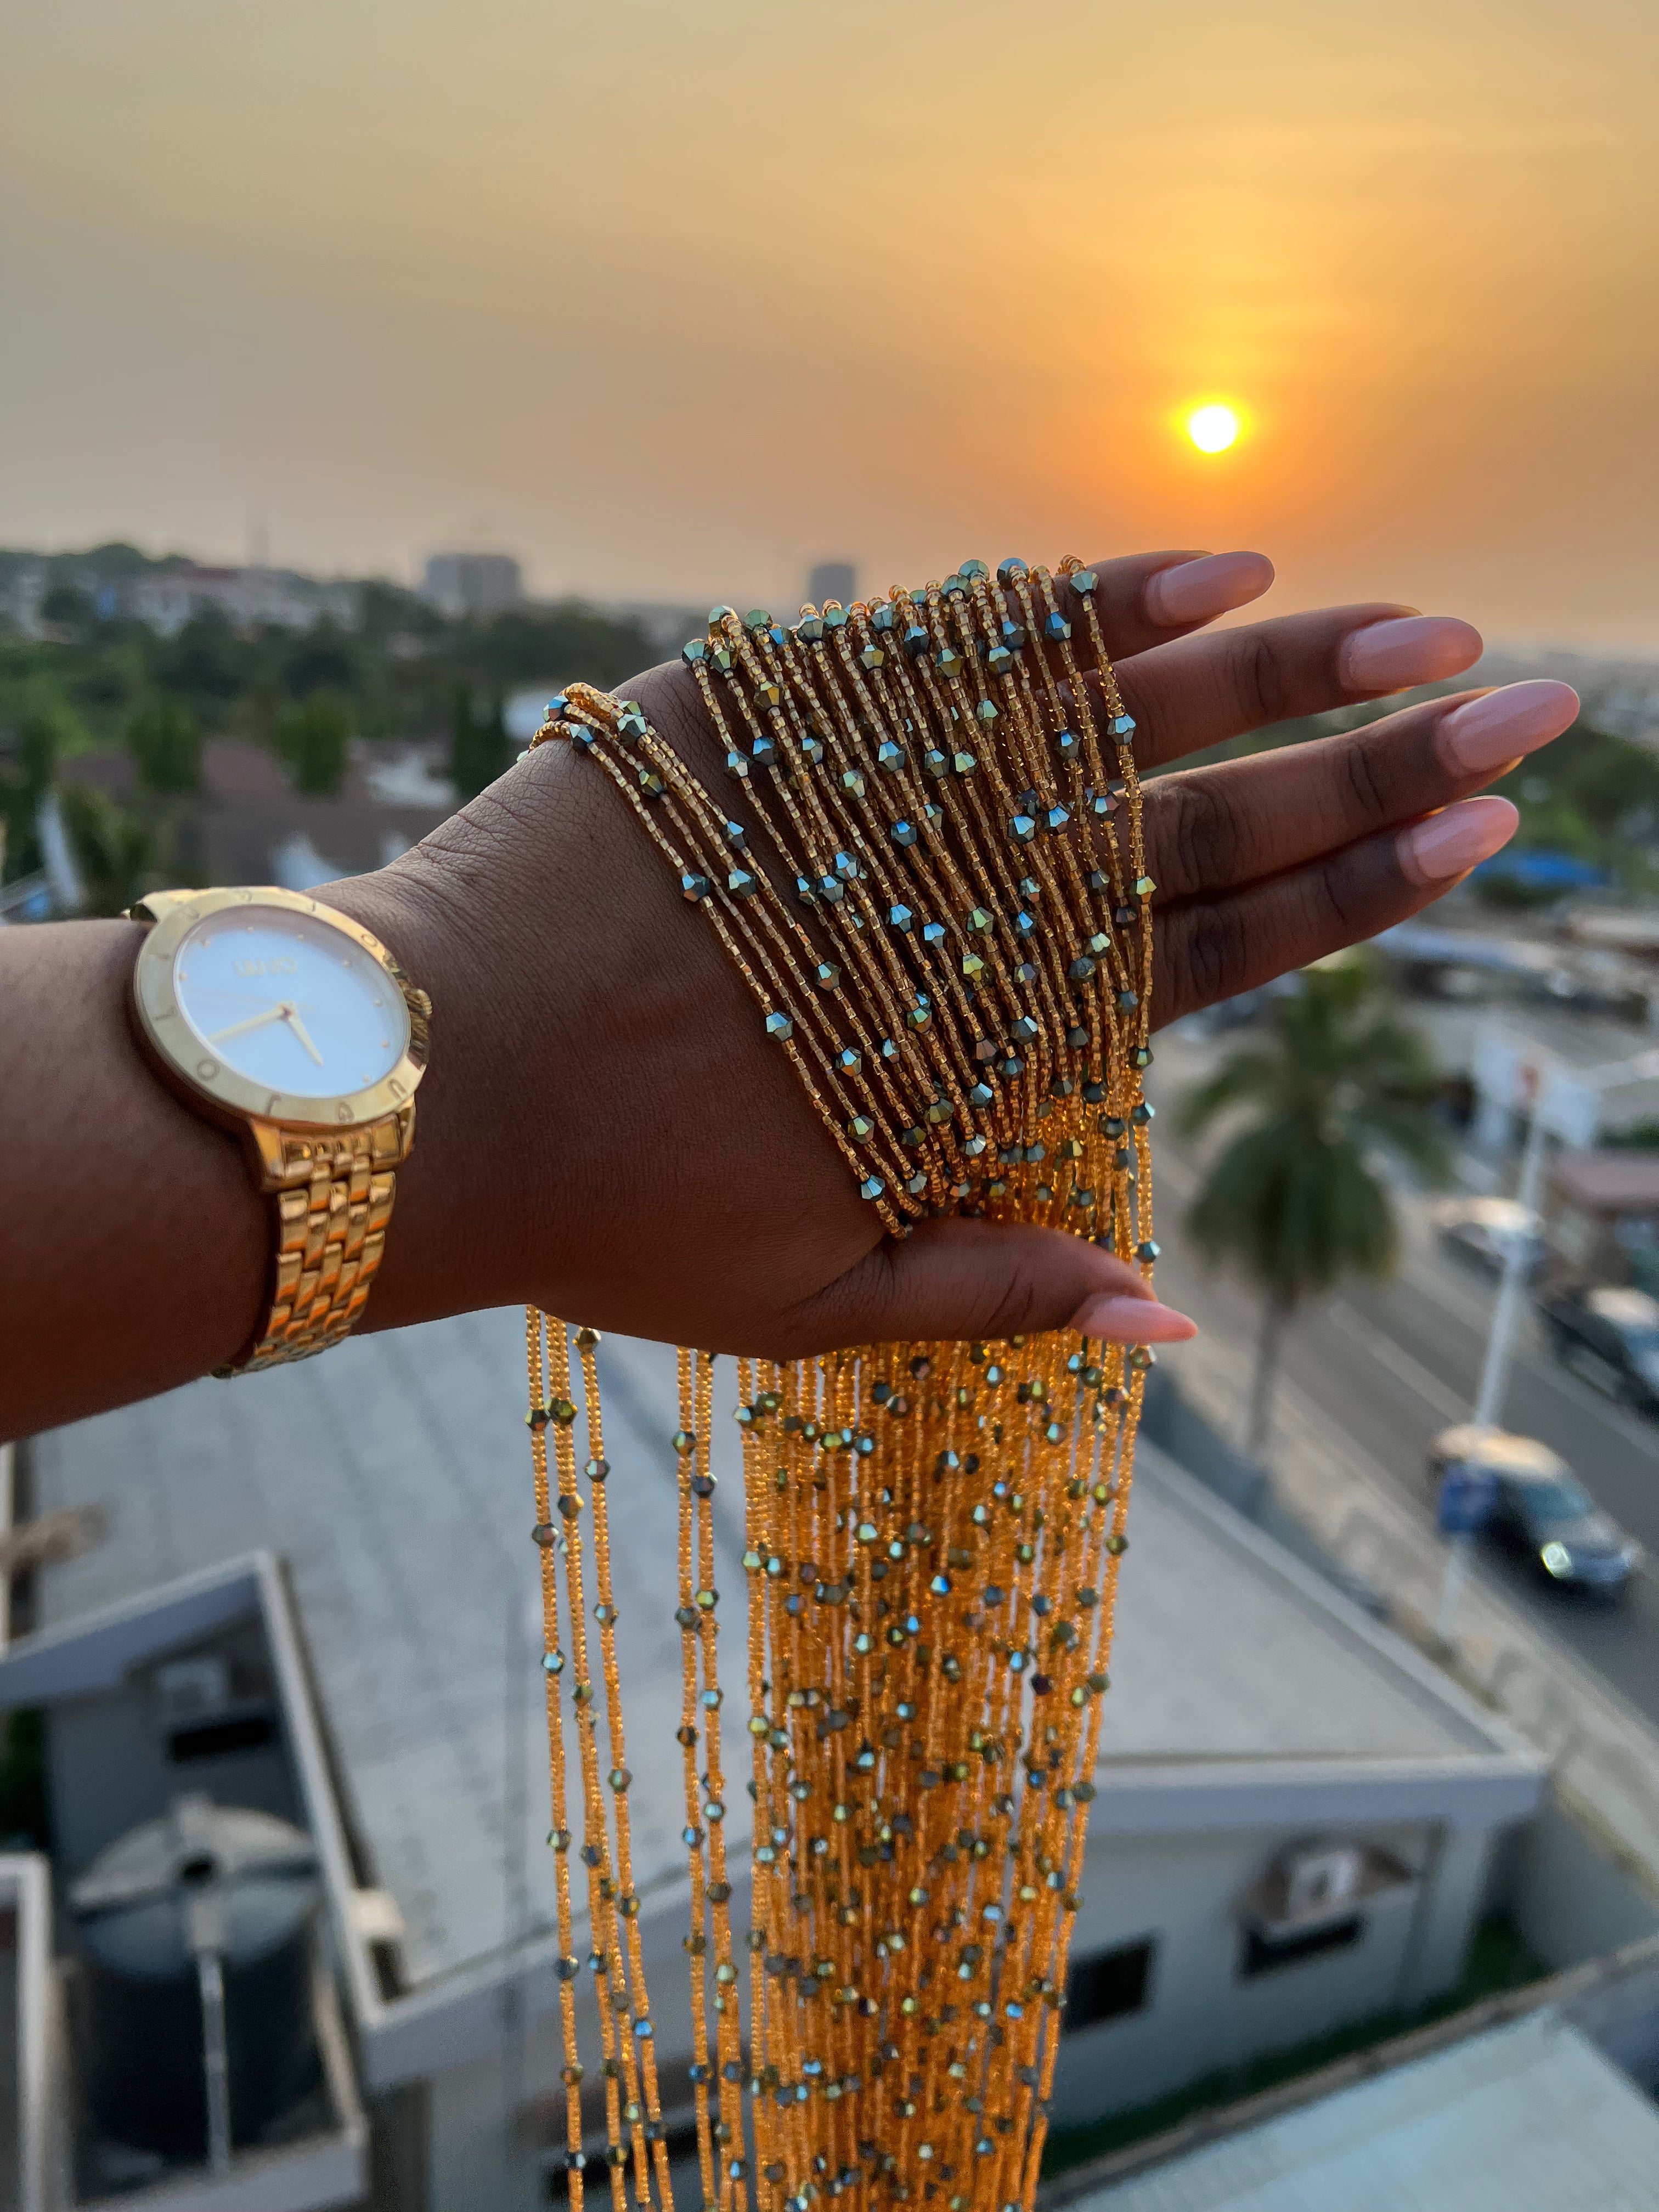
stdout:
POLYGON ((1659 648, 1655 0, 0 0, 0 544, 1659 648))

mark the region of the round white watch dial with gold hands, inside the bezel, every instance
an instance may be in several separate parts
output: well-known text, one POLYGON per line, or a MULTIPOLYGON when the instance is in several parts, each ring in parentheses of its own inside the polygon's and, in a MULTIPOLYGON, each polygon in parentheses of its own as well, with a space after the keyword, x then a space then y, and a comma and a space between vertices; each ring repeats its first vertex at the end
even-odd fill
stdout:
POLYGON ((296 1099, 367 1091, 409 1044, 409 1009, 343 929, 281 907, 199 920, 173 956, 179 1013, 234 1075, 296 1099))

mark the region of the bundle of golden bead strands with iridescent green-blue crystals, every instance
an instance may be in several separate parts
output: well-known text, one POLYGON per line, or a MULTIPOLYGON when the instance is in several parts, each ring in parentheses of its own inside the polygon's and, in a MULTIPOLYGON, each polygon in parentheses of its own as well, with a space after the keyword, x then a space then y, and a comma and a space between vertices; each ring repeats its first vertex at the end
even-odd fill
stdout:
MULTIPOLYGON (((891 1234, 942 1212, 1040 1221, 1150 1274, 1155 885, 1135 726, 1093 586, 1077 562, 1057 575, 1004 562, 995 584, 964 562, 945 584, 805 608, 790 626, 717 608, 686 661, 726 748, 719 799, 635 703, 584 686, 551 701, 535 741, 571 743, 635 810, 891 1234)), ((672 2197, 630 1869, 595 1343, 529 1314, 566 2168, 580 2205, 580 1790, 622 2212, 628 2179, 641 2205, 672 2197)), ((1150 1360, 1062 1334, 737 1360, 754 1803, 739 1933, 714 1360, 679 1354, 681 1427, 664 1451, 679 1467, 706 2205, 805 2212, 849 2194, 1029 2212, 1150 1360)))

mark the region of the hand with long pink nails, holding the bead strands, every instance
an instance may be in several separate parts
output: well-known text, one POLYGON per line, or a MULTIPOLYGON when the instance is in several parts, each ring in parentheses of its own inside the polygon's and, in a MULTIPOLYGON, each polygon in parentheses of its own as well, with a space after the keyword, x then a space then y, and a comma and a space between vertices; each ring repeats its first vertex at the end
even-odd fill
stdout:
MULTIPOLYGON (((1254 553, 1097 571, 1146 770, 1480 655, 1469 624, 1380 604, 1192 635, 1267 588, 1254 553)), ((719 787, 686 670, 624 690, 719 787)), ((1155 779, 1157 1018, 1427 905, 1515 827, 1506 801, 1469 794, 1575 708, 1562 684, 1520 684, 1155 779)), ((1057 1230, 938 1221, 883 1239, 714 933, 606 779, 564 748, 538 748, 389 869, 319 896, 376 929, 436 1009, 372 1327, 526 1298, 776 1356, 1064 1323, 1190 1334, 1135 1270, 1057 1230)))

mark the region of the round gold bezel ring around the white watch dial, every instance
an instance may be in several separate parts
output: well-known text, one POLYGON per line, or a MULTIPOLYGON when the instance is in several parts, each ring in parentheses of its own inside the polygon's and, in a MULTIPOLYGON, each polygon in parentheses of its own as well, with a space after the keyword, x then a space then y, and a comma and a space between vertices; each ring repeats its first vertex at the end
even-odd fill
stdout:
POLYGON ((133 967, 133 1009, 139 1031, 166 1071, 184 1088, 217 1108, 232 1121, 279 1121, 283 1128, 363 1128, 367 1121, 383 1121, 387 1115, 409 1106, 427 1071, 427 1013, 425 993, 414 991, 398 962, 385 945, 349 914, 325 907, 303 891, 283 891, 276 885, 250 885, 215 891, 153 891, 131 909, 135 920, 148 920, 133 967), (338 1097, 292 1097, 254 1084, 237 1075, 197 1040, 184 1018, 173 989, 173 960, 179 945, 197 922, 212 914, 230 914, 239 907, 276 907, 283 914, 305 914, 343 931, 398 989, 409 1013, 409 1044, 398 1064, 367 1091, 347 1091, 338 1097))

